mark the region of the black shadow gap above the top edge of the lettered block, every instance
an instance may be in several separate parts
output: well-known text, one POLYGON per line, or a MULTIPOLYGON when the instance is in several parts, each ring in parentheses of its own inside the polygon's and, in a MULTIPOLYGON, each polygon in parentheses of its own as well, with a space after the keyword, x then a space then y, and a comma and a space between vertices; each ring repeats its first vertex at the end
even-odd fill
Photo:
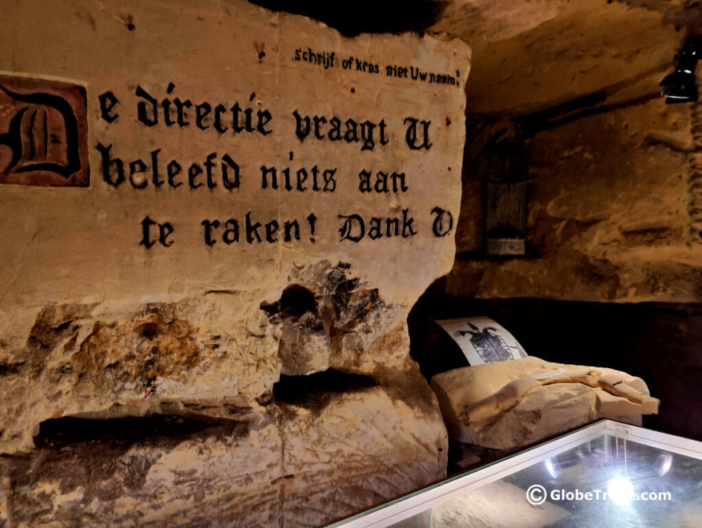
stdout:
POLYGON ((446 7, 443 0, 358 0, 340 4, 324 0, 249 0, 251 4, 321 20, 347 37, 359 33, 422 32, 446 7))

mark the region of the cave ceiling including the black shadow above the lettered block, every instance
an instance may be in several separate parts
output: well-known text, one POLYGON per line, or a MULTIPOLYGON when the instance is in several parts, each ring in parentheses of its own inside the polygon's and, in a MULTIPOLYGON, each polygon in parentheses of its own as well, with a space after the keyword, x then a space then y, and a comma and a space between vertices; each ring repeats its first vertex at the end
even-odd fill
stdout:
MULTIPOLYGON (((468 115, 531 116, 654 98, 701 32, 691 0, 252 0, 345 34, 448 32, 472 47, 468 115)), ((548 116, 547 116, 548 117, 548 116)))

